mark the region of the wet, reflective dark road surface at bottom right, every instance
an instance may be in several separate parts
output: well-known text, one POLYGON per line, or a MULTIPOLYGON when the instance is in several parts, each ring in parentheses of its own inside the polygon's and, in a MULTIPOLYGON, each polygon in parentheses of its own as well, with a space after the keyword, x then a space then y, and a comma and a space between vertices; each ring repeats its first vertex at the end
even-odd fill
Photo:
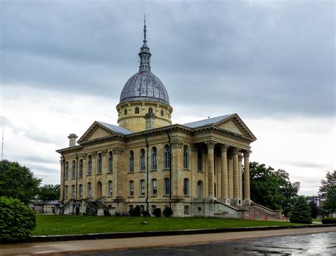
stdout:
POLYGON ((336 255, 336 232, 311 235, 286 235, 273 238, 189 245, 174 248, 151 248, 104 252, 101 255, 336 255))

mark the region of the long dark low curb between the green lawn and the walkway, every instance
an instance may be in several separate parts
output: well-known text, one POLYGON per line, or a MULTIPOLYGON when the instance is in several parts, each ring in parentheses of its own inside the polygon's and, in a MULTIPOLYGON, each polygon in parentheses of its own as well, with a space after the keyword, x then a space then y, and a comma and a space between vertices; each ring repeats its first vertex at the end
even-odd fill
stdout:
POLYGON ((327 228, 336 226, 336 224, 313 224, 313 225, 297 225, 297 226, 260 226, 260 227, 244 227, 244 228, 208 228, 208 229, 184 229, 179 231, 137 231, 137 232, 116 232, 116 233, 89 233, 79 235, 34 235, 25 242, 28 243, 44 243, 44 242, 60 242, 73 240, 97 240, 97 239, 114 239, 114 238, 143 238, 148 236, 164 236, 164 235, 195 235, 205 233, 228 233, 228 232, 244 232, 244 231, 271 231, 279 229, 293 228, 327 228))

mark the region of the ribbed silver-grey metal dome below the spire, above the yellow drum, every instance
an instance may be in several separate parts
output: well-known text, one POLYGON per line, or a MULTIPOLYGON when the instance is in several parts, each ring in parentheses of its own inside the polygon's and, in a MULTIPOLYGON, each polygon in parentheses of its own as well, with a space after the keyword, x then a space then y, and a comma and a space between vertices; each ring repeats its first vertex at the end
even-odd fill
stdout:
POLYGON ((140 70, 123 86, 120 103, 147 100, 169 105, 169 95, 162 81, 151 71, 140 70))

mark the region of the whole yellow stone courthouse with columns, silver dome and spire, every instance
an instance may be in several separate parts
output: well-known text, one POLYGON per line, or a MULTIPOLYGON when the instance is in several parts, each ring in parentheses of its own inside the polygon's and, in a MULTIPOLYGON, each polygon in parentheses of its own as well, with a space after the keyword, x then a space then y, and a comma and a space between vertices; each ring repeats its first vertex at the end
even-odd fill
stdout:
POLYGON ((116 106, 118 126, 94 121, 78 141, 70 134, 69 147, 57 150, 62 212, 127 214, 137 205, 150 212, 171 206, 174 216, 262 211, 250 200, 256 137, 237 114, 172 124, 173 107, 151 71, 151 55, 145 25, 139 71, 116 106))

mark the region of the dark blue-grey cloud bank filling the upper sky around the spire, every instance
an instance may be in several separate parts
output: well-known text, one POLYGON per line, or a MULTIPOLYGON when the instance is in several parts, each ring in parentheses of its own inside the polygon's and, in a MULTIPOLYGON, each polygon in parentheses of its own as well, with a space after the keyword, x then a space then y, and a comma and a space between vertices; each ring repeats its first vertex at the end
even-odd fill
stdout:
POLYGON ((147 13, 152 71, 173 107, 332 116, 333 7, 332 1, 1 1, 1 79, 116 100, 138 70, 147 13))

